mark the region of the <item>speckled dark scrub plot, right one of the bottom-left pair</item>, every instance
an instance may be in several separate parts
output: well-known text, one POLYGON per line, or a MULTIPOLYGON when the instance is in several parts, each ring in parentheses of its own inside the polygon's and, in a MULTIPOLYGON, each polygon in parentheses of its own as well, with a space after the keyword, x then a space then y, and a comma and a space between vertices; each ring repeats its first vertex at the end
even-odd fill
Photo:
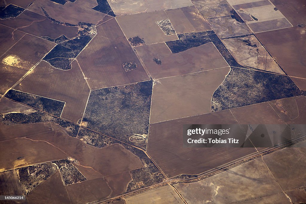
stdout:
POLYGON ((52 161, 56 164, 61 172, 62 179, 65 185, 75 184, 87 180, 79 170, 71 164, 68 159, 52 161))

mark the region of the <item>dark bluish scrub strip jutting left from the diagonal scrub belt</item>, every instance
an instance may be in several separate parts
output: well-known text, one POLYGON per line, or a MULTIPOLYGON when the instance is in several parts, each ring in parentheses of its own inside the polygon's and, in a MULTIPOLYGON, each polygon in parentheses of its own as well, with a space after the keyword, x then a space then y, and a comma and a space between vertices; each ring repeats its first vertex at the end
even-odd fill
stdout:
POLYGON ((171 50, 172 54, 177 54, 188 50, 193 47, 198 47, 200 45, 204 45, 206 43, 210 43, 211 39, 208 35, 194 37, 194 38, 186 38, 186 39, 179 39, 173 41, 167 41, 166 45, 171 50))

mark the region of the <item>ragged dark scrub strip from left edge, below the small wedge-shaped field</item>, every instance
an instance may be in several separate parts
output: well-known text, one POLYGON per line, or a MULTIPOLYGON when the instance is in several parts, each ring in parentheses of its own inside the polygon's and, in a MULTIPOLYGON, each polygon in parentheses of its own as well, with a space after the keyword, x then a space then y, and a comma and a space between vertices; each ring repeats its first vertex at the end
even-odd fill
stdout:
POLYGON ((27 124, 27 123, 40 123, 46 121, 52 121, 67 132, 71 137, 76 137, 80 126, 73 124, 71 122, 62 120, 57 117, 52 117, 47 113, 41 111, 36 111, 30 114, 24 113, 8 113, 0 117, 0 121, 4 124, 27 124))

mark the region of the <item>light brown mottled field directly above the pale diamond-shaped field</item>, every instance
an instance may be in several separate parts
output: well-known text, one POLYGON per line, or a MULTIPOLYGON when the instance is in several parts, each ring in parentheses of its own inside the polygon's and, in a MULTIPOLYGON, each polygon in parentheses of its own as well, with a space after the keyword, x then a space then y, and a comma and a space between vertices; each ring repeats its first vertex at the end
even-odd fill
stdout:
POLYGON ((228 38, 252 33, 247 24, 240 23, 232 17, 220 17, 208 19, 208 23, 214 28, 220 38, 228 38))

